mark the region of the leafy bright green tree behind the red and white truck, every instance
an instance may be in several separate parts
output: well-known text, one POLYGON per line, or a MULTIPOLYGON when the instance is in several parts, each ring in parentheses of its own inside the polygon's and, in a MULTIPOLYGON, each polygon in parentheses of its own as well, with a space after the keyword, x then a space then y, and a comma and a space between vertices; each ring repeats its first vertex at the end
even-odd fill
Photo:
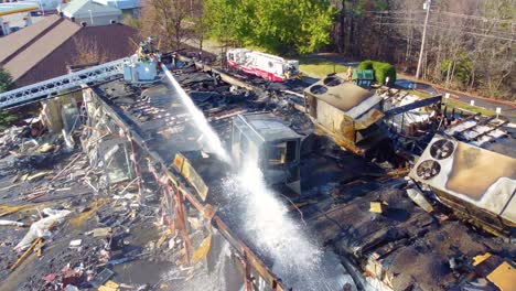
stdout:
POLYGON ((331 42, 335 11, 321 0, 205 0, 211 35, 271 53, 311 53, 331 42))

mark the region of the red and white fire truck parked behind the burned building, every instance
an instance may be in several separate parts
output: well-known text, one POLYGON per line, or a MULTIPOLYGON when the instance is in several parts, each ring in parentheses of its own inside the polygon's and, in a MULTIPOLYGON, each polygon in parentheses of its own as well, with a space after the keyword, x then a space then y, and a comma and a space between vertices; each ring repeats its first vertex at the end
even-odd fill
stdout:
POLYGON ((288 61, 247 48, 229 50, 226 58, 228 67, 270 82, 283 82, 299 76, 299 61, 288 61))

